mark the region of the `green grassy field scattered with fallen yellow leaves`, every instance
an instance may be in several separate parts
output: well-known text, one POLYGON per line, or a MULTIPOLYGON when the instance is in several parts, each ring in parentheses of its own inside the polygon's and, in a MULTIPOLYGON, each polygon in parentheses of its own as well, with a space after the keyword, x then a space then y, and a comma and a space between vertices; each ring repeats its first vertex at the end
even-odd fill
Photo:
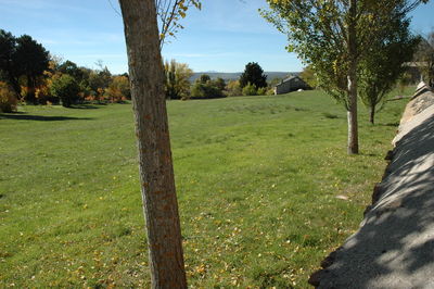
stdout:
MULTIPOLYGON (((375 126, 361 106, 348 156, 346 113, 318 91, 168 102, 189 285, 308 287, 358 227, 405 103, 375 126)), ((21 111, 0 114, 0 288, 148 287, 130 104, 21 111)))

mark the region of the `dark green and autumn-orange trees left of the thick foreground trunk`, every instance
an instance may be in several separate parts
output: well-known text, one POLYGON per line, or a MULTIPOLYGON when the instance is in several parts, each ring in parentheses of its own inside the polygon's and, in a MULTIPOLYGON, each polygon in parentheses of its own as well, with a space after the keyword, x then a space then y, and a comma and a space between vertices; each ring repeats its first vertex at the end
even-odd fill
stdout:
POLYGON ((28 35, 15 37, 0 29, 0 110, 12 112, 17 102, 123 102, 130 99, 128 75, 112 75, 101 62, 92 70, 62 61, 28 35))

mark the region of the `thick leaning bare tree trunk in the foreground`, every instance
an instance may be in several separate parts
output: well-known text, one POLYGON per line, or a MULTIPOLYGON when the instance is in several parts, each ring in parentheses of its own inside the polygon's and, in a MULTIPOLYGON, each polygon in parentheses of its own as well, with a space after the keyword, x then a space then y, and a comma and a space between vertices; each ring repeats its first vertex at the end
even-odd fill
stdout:
POLYGON ((187 288, 154 0, 119 0, 152 288, 187 288))

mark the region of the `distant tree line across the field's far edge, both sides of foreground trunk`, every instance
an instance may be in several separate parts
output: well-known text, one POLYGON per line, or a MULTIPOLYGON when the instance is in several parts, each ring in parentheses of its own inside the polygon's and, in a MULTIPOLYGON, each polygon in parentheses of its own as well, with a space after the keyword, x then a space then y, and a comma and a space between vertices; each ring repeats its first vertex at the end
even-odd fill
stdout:
MULTIPOLYGON (((124 102, 130 100, 128 74, 112 75, 102 62, 97 68, 78 66, 73 61, 51 55, 28 35, 20 37, 0 29, 0 111, 16 111, 27 104, 124 102)), ((272 95, 271 81, 259 64, 247 63, 238 80, 210 79, 206 74, 193 84, 193 71, 175 60, 164 63, 167 99, 214 99, 234 96, 272 95)), ((280 80, 280 79, 279 79, 280 80)))

